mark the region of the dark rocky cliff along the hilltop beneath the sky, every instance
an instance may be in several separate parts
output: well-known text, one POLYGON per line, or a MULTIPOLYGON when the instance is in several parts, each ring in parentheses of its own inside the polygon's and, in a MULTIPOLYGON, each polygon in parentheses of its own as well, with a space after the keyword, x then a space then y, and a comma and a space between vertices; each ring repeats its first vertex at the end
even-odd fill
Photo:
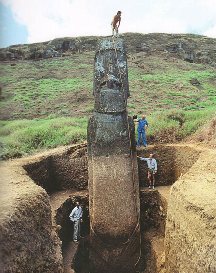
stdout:
MULTIPOLYGON (((216 38, 196 34, 162 33, 124 33, 120 37, 124 39, 128 56, 135 52, 145 52, 146 56, 162 55, 164 58, 174 57, 216 67, 216 38)), ((42 43, 13 45, 0 49, 0 61, 39 60, 82 54, 85 51, 95 51, 101 38, 98 36, 57 38, 42 43)))

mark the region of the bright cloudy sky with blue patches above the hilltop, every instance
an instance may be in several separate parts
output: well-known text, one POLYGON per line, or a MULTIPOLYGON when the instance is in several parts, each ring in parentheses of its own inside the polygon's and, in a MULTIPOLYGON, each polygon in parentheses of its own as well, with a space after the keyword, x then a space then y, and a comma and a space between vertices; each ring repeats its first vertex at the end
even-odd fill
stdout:
POLYGON ((60 37, 193 33, 216 38, 216 0, 0 0, 0 48, 60 37))

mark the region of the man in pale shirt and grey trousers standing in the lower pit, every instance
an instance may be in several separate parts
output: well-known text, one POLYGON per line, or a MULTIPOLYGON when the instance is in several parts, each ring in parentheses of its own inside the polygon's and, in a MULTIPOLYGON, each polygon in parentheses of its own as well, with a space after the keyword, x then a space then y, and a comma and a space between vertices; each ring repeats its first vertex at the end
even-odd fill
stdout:
POLYGON ((72 210, 69 217, 74 223, 73 242, 78 244, 77 239, 82 238, 80 235, 80 218, 82 217, 82 208, 79 207, 79 202, 76 202, 76 207, 72 210))

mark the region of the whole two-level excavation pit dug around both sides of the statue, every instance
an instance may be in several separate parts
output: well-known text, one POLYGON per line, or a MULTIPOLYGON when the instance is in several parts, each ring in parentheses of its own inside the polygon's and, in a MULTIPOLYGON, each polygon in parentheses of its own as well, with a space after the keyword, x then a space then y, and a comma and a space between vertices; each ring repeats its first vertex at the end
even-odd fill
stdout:
MULTIPOLYGON (((86 152, 87 145, 80 144, 61 152, 57 151, 39 158, 31 158, 28 162, 21 162, 28 176, 35 184, 43 187, 50 196, 52 233, 57 233, 62 242, 63 271, 58 272, 89 272, 90 226, 86 152), (72 242, 73 223, 69 219, 76 200, 83 209, 81 230, 84 239, 79 244, 72 242)), ((143 273, 164 272, 164 233, 170 185, 191 168, 198 159, 200 151, 188 146, 163 145, 141 148, 137 151, 137 155, 142 157, 148 157, 149 153, 153 153, 158 162, 155 190, 147 189, 147 166, 145 162, 138 161, 142 257, 136 269, 143 273), (187 161, 182 160, 185 157, 187 161)), ((58 243, 55 241, 54 245, 58 243)), ((61 255, 57 256, 58 259, 62 259, 61 255)), ((49 272, 46 253, 43 253, 43 259, 48 270, 44 272, 49 272)))

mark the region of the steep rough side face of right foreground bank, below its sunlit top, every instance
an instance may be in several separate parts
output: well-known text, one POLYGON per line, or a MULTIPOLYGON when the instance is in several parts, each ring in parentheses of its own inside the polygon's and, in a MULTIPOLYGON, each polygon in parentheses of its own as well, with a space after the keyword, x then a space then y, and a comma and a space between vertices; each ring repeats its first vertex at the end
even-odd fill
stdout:
POLYGON ((191 202, 188 196, 185 198, 180 181, 170 194, 165 234, 166 273, 216 272, 215 214, 206 214, 204 208, 191 202))

